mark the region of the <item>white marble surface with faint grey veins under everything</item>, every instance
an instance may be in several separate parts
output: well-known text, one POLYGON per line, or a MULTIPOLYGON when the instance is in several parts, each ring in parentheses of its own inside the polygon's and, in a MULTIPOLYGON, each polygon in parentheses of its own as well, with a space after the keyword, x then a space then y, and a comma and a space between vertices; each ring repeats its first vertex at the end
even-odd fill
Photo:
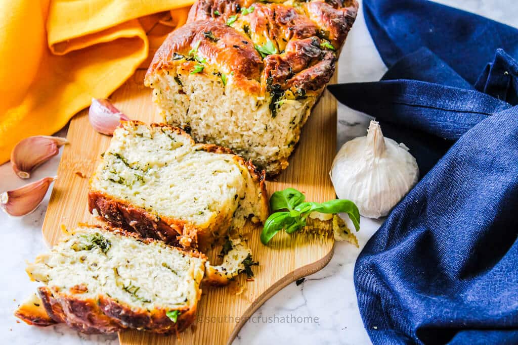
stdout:
MULTIPOLYGON (((494 20, 516 26, 518 5, 515 0, 439 0, 438 2, 479 13, 494 20)), ((349 35, 339 62, 339 82, 376 81, 386 68, 383 65, 365 26, 363 13, 349 35)), ((351 109, 339 107, 339 144, 362 136, 368 118, 351 109)), ((66 129, 61 131, 61 135, 66 129)), ((36 171, 31 181, 52 176, 59 156, 36 171)), ((8 164, 0 166, 0 191, 12 189, 24 182, 13 175, 8 164)), ((2 241, 0 242, 0 343, 5 344, 117 344, 117 335, 86 336, 64 325, 47 328, 29 327, 17 323, 13 310, 36 284, 28 281, 25 262, 47 250, 41 238, 41 225, 50 192, 36 211, 23 218, 9 218, 0 213, 2 241)), ((235 345, 265 343, 296 344, 368 344, 356 302, 353 268, 356 257, 381 221, 362 219, 358 233, 360 249, 338 243, 331 262, 320 272, 306 277, 297 286, 292 283, 269 299, 254 314, 258 322, 249 322, 241 329, 235 345), (267 317, 312 317, 314 322, 267 323, 267 317), (318 322, 317 319, 318 318, 318 322)), ((279 319, 281 320, 281 319, 279 319)))

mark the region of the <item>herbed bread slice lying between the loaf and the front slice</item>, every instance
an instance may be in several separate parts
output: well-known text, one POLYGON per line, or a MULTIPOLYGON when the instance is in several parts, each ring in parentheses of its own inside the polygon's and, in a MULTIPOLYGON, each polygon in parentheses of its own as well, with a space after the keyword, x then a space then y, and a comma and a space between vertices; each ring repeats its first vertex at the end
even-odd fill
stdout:
POLYGON ((248 218, 266 220, 264 176, 179 128, 130 121, 113 133, 91 178, 89 208, 143 237, 205 249, 248 218))

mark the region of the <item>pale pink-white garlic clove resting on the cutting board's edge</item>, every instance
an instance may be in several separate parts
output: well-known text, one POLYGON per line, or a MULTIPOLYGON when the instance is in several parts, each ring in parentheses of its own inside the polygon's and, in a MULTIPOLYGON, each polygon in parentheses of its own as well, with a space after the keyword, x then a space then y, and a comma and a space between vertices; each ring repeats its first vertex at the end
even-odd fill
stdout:
POLYGON ((108 99, 92 98, 88 119, 97 132, 111 136, 122 121, 130 118, 115 108, 108 99))

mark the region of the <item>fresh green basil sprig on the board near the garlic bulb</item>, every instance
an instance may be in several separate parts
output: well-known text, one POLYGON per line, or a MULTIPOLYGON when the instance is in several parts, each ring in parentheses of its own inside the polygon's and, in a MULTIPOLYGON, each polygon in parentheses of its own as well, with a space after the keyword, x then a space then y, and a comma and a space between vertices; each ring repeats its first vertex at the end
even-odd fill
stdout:
POLYGON ((261 233, 261 242, 267 244, 279 231, 292 234, 306 226, 306 218, 311 212, 320 213, 347 213, 359 230, 359 212, 354 202, 344 199, 329 200, 323 203, 305 201, 303 193, 294 188, 286 188, 272 194, 270 198, 271 211, 280 211, 271 214, 264 223, 261 233))

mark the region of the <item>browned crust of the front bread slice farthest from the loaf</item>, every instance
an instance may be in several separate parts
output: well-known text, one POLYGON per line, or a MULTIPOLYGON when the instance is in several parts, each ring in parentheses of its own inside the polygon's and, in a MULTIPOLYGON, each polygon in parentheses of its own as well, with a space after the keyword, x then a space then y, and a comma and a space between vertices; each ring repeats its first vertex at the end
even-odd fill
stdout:
MULTIPOLYGON (((133 237, 142 243, 152 243, 152 238, 141 238, 133 232, 108 226, 91 226, 104 228, 127 237, 133 237)), ((204 254, 193 250, 193 257, 207 259, 204 254)), ((70 293, 59 287, 38 288, 38 299, 30 299, 15 312, 15 316, 30 325, 48 326, 55 323, 66 323, 69 327, 85 334, 114 333, 126 328, 149 331, 153 333, 181 332, 195 320, 196 305, 179 308, 177 322, 172 322, 166 315, 168 310, 155 308, 147 310, 131 308, 106 295, 98 299, 77 297, 85 287, 70 288, 70 293), (76 295, 74 295, 76 294, 76 295), (36 304, 34 304, 36 303, 36 304), (32 304, 32 305, 31 305, 32 304), (34 306, 34 307, 33 307, 34 306)), ((198 289, 196 297, 199 300, 202 291, 198 289)))

